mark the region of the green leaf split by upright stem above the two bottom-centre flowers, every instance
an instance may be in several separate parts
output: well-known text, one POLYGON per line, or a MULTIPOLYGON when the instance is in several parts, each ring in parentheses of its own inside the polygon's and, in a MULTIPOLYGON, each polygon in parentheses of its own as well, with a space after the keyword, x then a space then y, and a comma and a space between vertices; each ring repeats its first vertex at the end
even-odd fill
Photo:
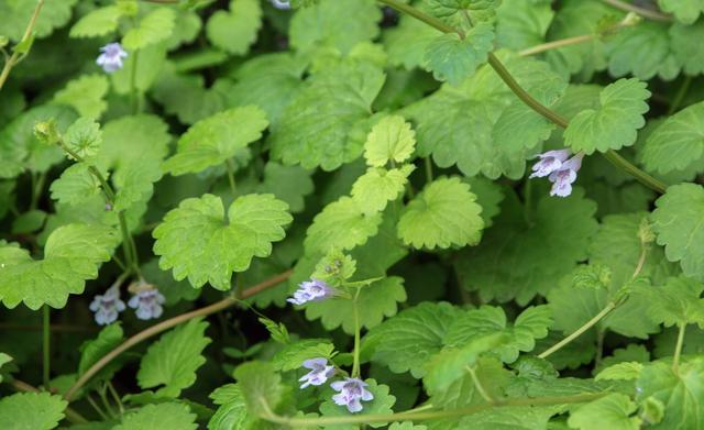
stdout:
MULTIPOLYGON (((389 276, 363 287, 356 299, 360 324, 367 329, 381 324, 384 317, 396 315, 398 304, 405 300, 404 279, 398 276, 389 276)), ((306 306, 306 318, 320 319, 327 330, 342 327, 345 333, 354 333, 354 302, 349 299, 331 298, 310 302, 306 306)))

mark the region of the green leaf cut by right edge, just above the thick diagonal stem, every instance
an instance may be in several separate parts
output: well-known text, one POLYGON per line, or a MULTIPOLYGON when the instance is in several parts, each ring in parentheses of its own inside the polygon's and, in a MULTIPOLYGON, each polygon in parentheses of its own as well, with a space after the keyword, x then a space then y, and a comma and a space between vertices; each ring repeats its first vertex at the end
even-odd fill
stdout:
POLYGON ((650 172, 667 174, 700 166, 704 159, 704 102, 668 117, 648 136, 641 157, 650 172))

